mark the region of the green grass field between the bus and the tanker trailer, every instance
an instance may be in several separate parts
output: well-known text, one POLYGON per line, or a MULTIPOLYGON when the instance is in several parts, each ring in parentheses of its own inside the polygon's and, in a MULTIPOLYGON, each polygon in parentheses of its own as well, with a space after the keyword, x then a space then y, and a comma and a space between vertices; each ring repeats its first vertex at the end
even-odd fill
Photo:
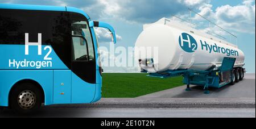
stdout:
POLYGON ((182 77, 154 78, 143 73, 104 73, 102 97, 134 98, 184 85, 182 77))

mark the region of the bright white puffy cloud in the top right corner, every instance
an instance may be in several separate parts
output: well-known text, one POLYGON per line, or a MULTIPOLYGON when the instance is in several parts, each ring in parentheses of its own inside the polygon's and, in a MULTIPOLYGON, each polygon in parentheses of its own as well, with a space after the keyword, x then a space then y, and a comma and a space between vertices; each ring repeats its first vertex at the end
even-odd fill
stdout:
POLYGON ((255 3, 252 4, 252 1, 244 1, 242 5, 218 7, 217 24, 229 30, 255 34, 255 3))

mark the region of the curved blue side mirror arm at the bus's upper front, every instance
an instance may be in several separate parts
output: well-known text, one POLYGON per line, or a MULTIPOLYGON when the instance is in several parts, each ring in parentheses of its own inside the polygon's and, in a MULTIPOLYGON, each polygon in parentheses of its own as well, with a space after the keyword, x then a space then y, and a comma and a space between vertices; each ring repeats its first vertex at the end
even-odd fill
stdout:
POLYGON ((90 27, 102 27, 102 28, 107 28, 111 32, 111 37, 112 37, 112 42, 115 44, 117 43, 117 38, 115 36, 115 31, 110 24, 105 23, 105 22, 97 22, 97 21, 90 21, 89 22, 90 27))

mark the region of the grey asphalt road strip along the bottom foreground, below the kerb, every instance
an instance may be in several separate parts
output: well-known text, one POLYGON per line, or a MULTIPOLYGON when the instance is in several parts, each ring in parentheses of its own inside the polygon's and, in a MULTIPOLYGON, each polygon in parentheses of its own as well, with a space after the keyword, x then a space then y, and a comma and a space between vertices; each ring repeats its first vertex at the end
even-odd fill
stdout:
MULTIPOLYGON (((22 117, 6 110, 0 117, 22 117)), ((121 109, 121 108, 51 108, 46 107, 37 114, 23 117, 49 118, 255 118, 255 109, 121 109)))

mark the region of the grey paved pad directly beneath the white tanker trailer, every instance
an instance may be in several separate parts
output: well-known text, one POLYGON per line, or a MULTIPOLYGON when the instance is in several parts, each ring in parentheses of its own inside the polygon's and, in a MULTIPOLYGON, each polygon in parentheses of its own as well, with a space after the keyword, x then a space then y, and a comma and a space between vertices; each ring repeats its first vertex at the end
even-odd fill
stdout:
POLYGON ((185 91, 186 86, 159 91, 137 98, 254 98, 255 74, 245 74, 243 81, 226 85, 220 89, 210 88, 210 94, 204 94, 202 86, 191 86, 192 91, 185 91))

